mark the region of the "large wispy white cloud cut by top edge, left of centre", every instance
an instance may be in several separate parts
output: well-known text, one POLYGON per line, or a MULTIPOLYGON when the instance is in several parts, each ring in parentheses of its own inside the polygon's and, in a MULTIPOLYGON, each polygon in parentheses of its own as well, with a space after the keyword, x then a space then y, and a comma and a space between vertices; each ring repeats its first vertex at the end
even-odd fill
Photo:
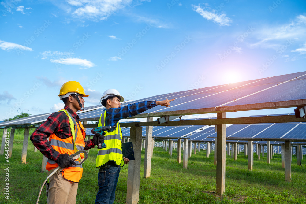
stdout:
POLYGON ((132 0, 68 0, 67 3, 73 6, 73 9, 78 7, 73 11, 73 17, 99 21, 106 20, 114 12, 131 5, 132 0))

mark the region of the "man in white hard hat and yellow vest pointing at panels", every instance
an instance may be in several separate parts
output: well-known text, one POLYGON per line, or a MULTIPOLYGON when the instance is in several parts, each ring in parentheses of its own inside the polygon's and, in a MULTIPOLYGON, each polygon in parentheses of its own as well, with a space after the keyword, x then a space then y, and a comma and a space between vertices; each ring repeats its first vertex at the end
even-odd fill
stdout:
POLYGON ((157 105, 169 107, 169 102, 173 100, 143 101, 121 107, 120 102, 123 102, 124 98, 119 91, 116 89, 104 91, 100 103, 105 109, 100 116, 98 127, 110 125, 112 128, 105 131, 106 148, 98 149, 96 168, 99 168, 99 190, 95 200, 96 204, 114 202, 120 167, 129 162, 129 159, 123 158, 121 152, 122 132, 119 120, 135 116, 157 105))

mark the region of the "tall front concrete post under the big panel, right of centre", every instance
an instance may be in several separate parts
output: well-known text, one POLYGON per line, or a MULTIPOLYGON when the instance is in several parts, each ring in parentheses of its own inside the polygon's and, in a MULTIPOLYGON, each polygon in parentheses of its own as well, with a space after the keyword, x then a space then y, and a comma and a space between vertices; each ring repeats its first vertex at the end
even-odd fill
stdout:
MULTIPOLYGON (((225 118, 225 113, 217 113, 217 119, 225 118)), ((216 125, 217 127, 217 175, 216 175, 216 192, 218 195, 222 195, 225 192, 225 124, 216 125)))

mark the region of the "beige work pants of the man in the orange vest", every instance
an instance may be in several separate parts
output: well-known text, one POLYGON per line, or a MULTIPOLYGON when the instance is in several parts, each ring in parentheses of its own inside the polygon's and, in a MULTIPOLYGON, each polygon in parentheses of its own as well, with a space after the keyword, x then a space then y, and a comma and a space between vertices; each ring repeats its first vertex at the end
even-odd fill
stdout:
POLYGON ((79 183, 64 179, 62 172, 58 172, 49 178, 48 204, 75 204, 79 183))

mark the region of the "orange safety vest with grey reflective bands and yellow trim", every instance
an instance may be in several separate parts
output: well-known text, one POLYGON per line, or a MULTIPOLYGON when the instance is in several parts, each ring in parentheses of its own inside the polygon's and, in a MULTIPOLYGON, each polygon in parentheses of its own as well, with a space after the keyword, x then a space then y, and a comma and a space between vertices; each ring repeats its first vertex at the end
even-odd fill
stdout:
MULTIPOLYGON (((64 111, 66 115, 69 118, 69 123, 70 123, 70 128, 72 132, 72 136, 62 139, 56 136, 54 133, 50 135, 49 137, 49 143, 53 147, 54 150, 58 151, 60 154, 74 154, 78 150, 83 150, 85 147, 85 137, 86 137, 86 132, 84 131, 84 127, 82 123, 79 121, 79 125, 77 125, 76 120, 71 116, 71 114, 65 110, 62 109, 60 111, 64 111)), ((67 167, 62 171, 62 176, 69 181, 72 182, 79 182, 80 179, 82 178, 82 173, 83 173, 83 168, 82 165, 80 165, 80 159, 84 158, 84 154, 80 154, 80 158, 78 156, 78 159, 76 159, 76 166, 72 167, 67 167)), ((75 158, 74 158, 75 159, 75 158)), ((48 171, 57 168, 58 164, 51 159, 47 160, 47 165, 46 169, 48 171)))

